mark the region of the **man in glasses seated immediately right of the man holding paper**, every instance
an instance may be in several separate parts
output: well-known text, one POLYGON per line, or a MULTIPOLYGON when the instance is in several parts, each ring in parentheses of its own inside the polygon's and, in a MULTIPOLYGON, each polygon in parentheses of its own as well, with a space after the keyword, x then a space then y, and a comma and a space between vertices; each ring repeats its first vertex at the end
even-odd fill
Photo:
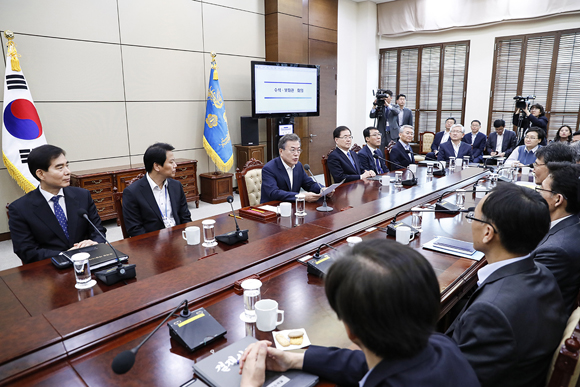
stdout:
POLYGON ((333 132, 336 148, 328 155, 328 169, 335 183, 366 179, 375 176, 372 170, 361 168, 358 156, 350 150, 352 134, 346 126, 339 126, 333 132))

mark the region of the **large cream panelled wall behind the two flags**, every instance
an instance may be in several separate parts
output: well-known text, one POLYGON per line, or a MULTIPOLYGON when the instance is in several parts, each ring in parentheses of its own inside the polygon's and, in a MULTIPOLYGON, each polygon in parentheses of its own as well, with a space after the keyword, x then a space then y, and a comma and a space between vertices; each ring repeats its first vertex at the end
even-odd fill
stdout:
MULTIPOLYGON (((251 115, 250 61, 266 56, 264 0, 0 0, 0 28, 15 33, 47 141, 73 172, 140 163, 156 141, 213 171, 202 146, 210 52, 233 144, 251 115)), ((0 203, 22 194, 1 165, 0 203)))

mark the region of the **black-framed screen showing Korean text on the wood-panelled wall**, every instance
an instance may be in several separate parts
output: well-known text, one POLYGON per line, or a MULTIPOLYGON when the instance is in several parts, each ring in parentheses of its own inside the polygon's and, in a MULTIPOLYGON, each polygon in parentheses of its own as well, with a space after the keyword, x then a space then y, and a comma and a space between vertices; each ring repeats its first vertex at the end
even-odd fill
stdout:
POLYGON ((252 61, 252 117, 320 115, 320 66, 252 61))

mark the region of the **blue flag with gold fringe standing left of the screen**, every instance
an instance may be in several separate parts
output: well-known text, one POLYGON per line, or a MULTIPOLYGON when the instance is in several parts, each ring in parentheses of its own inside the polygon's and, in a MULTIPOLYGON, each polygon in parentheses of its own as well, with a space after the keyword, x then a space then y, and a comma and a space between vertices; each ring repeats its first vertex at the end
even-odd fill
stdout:
POLYGON ((212 60, 212 68, 209 74, 203 147, 221 171, 227 172, 234 165, 234 152, 228 130, 226 108, 218 81, 215 57, 212 60))

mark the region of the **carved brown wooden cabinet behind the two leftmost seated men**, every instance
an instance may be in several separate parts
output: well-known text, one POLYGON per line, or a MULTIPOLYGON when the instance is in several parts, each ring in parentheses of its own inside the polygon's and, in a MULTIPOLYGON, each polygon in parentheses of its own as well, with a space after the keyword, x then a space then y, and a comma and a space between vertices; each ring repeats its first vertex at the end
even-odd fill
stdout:
MULTIPOLYGON (((195 201, 199 207, 199 189, 197 187, 197 160, 177 159, 175 180, 183 185, 188 202, 195 201)), ((71 173, 71 185, 89 190, 101 220, 115 219, 117 212, 113 204, 113 192, 123 192, 127 182, 145 173, 143 164, 133 167, 119 166, 98 168, 71 173)))

